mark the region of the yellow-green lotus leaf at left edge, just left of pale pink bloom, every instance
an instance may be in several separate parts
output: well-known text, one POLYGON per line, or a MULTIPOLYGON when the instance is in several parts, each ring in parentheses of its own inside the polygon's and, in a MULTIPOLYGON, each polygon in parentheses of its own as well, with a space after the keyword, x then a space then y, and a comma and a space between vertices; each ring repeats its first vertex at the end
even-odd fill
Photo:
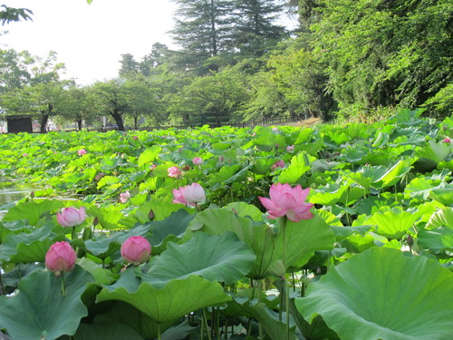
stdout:
POLYGON ((3 219, 5 221, 28 219, 28 223, 35 226, 44 212, 53 212, 63 207, 63 202, 56 199, 46 199, 41 202, 37 200, 19 202, 15 207, 8 210, 3 219))

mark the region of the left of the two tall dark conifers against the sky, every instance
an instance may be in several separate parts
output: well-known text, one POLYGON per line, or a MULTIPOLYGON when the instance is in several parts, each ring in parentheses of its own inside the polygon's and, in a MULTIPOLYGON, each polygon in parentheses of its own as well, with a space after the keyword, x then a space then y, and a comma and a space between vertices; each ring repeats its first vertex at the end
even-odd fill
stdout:
POLYGON ((230 47, 231 1, 226 0, 174 0, 176 24, 171 33, 182 47, 178 63, 183 69, 198 74, 217 70, 216 63, 204 67, 204 63, 230 47))

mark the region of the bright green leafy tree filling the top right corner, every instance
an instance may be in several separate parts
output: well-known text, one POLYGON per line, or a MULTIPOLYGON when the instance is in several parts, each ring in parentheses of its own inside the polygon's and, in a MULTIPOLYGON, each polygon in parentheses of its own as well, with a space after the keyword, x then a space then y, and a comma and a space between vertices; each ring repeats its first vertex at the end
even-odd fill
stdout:
POLYGON ((313 43, 343 108, 415 108, 451 83, 451 1, 324 0, 322 5, 313 43))

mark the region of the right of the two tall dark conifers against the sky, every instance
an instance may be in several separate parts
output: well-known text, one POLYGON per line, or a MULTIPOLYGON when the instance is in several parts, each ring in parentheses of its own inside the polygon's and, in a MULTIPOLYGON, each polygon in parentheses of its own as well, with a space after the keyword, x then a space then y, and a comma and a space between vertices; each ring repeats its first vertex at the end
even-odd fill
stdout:
POLYGON ((233 4, 232 42, 240 54, 261 56, 284 38, 284 27, 275 24, 283 5, 275 0, 235 0, 233 4))

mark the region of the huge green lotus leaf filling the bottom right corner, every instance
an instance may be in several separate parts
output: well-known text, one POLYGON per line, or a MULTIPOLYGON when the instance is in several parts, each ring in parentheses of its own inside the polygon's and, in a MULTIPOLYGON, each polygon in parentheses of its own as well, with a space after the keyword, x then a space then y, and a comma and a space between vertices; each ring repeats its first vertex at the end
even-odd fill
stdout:
POLYGON ((371 248, 308 287, 295 304, 342 340, 444 340, 451 337, 453 275, 428 257, 371 248))

